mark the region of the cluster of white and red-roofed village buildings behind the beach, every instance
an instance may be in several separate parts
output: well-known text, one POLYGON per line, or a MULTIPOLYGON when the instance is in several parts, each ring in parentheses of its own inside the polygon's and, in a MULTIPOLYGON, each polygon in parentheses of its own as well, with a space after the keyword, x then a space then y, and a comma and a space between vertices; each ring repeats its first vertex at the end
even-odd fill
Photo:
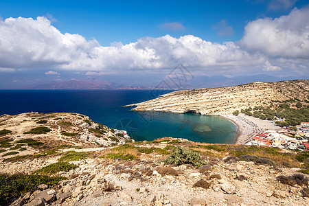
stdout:
POLYGON ((291 137, 286 131, 266 130, 265 133, 257 134, 246 145, 249 146, 271 146, 289 150, 309 150, 309 128, 301 125, 297 128, 295 135, 291 137))

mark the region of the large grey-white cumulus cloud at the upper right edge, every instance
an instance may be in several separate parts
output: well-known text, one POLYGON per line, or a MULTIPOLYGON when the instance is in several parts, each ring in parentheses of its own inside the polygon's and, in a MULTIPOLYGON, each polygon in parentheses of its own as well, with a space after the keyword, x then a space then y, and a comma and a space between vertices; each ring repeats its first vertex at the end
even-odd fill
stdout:
POLYGON ((309 8, 294 9, 277 19, 248 23, 240 41, 245 49, 270 57, 309 58, 309 8))

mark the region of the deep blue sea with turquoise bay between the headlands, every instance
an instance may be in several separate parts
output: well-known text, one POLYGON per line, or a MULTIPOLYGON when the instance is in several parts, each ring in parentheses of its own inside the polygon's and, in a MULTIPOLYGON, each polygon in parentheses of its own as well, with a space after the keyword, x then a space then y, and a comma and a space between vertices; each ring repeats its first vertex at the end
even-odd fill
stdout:
MULTIPOLYGON (((0 115, 72 112, 89 116, 111 128, 127 130, 135 141, 159 137, 233 144, 236 126, 218 116, 193 113, 130 111, 127 104, 156 98, 153 90, 0 90, 0 115)), ((164 91, 168 93, 170 91, 164 91)))

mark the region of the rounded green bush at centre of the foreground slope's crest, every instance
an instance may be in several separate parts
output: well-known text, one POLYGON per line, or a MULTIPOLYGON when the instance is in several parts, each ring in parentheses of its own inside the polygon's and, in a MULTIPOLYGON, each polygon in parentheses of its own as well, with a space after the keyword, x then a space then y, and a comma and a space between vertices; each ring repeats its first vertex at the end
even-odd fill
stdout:
POLYGON ((175 163, 176 165, 190 164, 194 166, 201 166, 205 162, 201 159, 201 155, 194 150, 187 150, 185 148, 177 147, 170 157, 166 158, 165 164, 175 163))

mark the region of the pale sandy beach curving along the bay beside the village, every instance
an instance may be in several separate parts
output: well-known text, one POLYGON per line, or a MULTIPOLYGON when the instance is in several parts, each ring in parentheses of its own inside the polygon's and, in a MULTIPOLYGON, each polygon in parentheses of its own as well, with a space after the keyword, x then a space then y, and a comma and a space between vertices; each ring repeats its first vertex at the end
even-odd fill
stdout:
POLYGON ((240 114, 235 115, 221 115, 231 120, 238 127, 238 137, 236 137, 235 144, 246 144, 255 134, 263 133, 265 130, 278 130, 279 126, 271 123, 269 120, 262 120, 255 117, 240 114))

